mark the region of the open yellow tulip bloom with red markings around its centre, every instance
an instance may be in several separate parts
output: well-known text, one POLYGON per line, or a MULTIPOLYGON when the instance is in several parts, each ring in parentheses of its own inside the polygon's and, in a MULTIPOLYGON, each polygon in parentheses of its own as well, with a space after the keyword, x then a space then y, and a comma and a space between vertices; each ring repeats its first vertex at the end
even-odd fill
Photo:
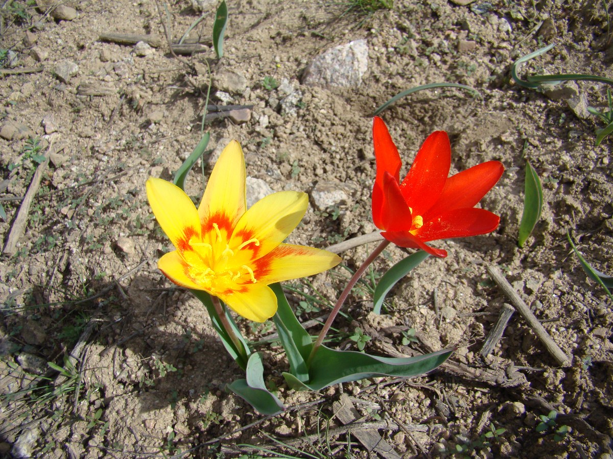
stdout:
POLYGON ((282 243, 307 211, 305 193, 273 193, 246 209, 245 179, 243 151, 232 141, 213 168, 198 209, 181 188, 162 179, 148 179, 147 196, 176 248, 158 261, 166 277, 264 322, 277 309, 268 284, 326 271, 340 258, 282 243))

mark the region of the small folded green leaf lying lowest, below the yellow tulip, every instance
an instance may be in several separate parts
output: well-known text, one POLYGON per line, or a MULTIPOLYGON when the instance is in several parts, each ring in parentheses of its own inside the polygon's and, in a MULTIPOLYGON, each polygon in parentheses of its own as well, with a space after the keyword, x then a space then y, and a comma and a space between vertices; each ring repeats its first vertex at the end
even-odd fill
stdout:
POLYGON ((274 416, 285 411, 283 403, 266 389, 264 365, 259 353, 249 356, 246 373, 246 379, 237 379, 234 383, 228 384, 228 389, 266 416, 274 416))

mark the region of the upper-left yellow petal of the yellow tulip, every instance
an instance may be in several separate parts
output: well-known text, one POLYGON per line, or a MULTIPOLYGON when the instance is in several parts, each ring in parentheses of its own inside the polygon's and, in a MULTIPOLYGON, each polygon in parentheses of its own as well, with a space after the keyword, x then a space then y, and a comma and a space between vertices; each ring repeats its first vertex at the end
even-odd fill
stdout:
POLYGON ((147 181, 147 198, 159 226, 178 250, 186 250, 192 236, 200 237, 196 206, 177 185, 151 177, 147 181))

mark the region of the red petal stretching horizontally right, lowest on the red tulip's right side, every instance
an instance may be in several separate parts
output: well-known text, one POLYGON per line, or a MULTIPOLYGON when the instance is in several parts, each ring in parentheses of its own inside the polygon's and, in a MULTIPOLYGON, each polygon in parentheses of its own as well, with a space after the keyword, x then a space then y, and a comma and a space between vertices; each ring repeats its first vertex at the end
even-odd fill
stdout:
POLYGON ((476 236, 491 233, 498 227, 500 217, 485 209, 454 209, 440 217, 424 222, 417 237, 421 241, 436 241, 451 237, 476 236))

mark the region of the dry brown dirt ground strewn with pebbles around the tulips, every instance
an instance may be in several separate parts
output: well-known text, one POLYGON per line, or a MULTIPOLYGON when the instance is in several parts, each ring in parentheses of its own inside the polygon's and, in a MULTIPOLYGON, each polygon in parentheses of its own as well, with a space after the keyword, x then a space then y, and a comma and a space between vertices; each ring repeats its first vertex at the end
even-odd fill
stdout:
MULTIPOLYGON (((568 230, 592 266, 613 274, 612 140, 595 146, 603 124, 585 110, 606 109, 606 85, 526 89, 509 73, 516 59, 555 43, 520 74, 613 77, 605 6, 396 0, 364 13, 320 0, 230 0, 224 56, 216 59, 210 37, 218 4, 204 3, 2 2, 3 247, 37 169, 42 179, 15 253, 0 259, 0 456, 376 457, 334 416, 333 404, 349 395, 365 423, 361 431, 397 452, 380 457, 612 458, 612 302, 566 239, 568 230), (186 37, 202 43, 201 52, 173 56, 166 36, 178 41, 201 15, 186 37), (99 39, 112 32, 160 39, 152 47, 99 39), (316 56, 360 39, 368 50, 361 82, 302 80, 316 56), (200 140, 207 64, 210 103, 248 108, 207 119, 215 152, 207 152, 204 175, 194 168, 186 191, 199 198, 208 157, 236 139, 249 177, 274 191, 310 193, 290 242, 317 247, 376 229, 370 192, 377 106, 427 83, 479 91, 417 92, 381 116, 405 167, 433 130, 449 133, 452 171, 503 162, 502 179, 481 201, 500 215, 500 227, 436 242, 449 256, 429 258, 406 277, 381 316, 371 313, 372 282, 365 280, 348 316, 337 319, 332 343, 355 348, 349 336, 360 327, 371 337, 369 353, 457 346, 453 365, 421 378, 294 392, 281 377, 281 347, 267 341, 257 348, 287 411, 261 416, 224 389, 241 370, 205 308, 158 271, 170 243, 145 196, 147 178, 171 179, 200 140), (527 160, 543 181, 544 207, 518 248, 527 160), (343 198, 317 207, 314 194, 322 189, 343 198), (479 354, 509 302, 488 265, 503 271, 570 365, 560 367, 518 314, 492 353, 479 354), (557 417, 541 424, 551 411, 557 417)), ((343 265, 355 269, 373 247, 344 252, 343 265)), ((390 246, 371 278, 404 256, 390 246)), ((346 273, 337 267, 289 283, 301 321, 325 317, 346 273), (313 300, 319 295, 325 300, 313 300)), ((251 341, 274 332, 272 323, 238 322, 251 341)))

